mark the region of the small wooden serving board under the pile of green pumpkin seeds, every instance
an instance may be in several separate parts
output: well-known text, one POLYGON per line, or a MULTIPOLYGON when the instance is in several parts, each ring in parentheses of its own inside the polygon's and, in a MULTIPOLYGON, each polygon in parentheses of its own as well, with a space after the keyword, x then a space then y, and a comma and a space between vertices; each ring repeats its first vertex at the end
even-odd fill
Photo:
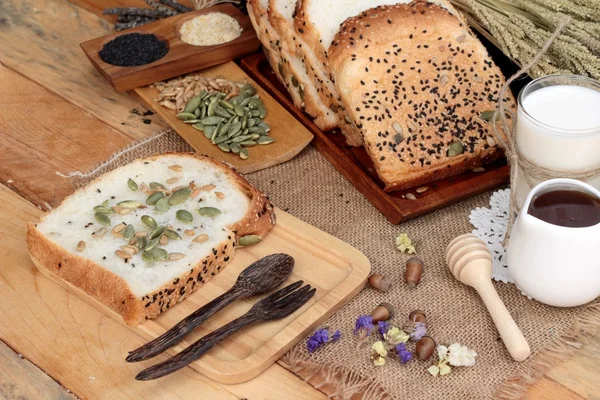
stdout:
POLYGON ((197 152, 225 161, 241 173, 250 173, 292 159, 313 139, 313 134, 304 125, 298 122, 292 114, 235 63, 228 62, 203 70, 201 73, 208 77, 222 76, 231 81, 253 84, 267 109, 265 122, 271 126, 269 135, 275 139, 275 142, 269 145, 250 147, 250 157, 247 160, 242 160, 237 154, 221 151, 202 132, 180 121, 174 110, 169 110, 158 104, 155 101, 158 96, 157 89, 149 86, 136 89, 136 93, 148 103, 150 108, 156 111, 197 152))

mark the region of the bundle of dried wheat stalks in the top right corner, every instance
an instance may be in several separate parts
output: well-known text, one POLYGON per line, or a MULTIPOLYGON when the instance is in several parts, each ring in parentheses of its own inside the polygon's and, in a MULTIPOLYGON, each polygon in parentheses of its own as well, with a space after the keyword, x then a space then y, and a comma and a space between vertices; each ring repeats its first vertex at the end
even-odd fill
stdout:
POLYGON ((600 79, 600 1, 451 0, 480 32, 519 65, 539 52, 564 16, 571 23, 530 74, 573 73, 600 79))

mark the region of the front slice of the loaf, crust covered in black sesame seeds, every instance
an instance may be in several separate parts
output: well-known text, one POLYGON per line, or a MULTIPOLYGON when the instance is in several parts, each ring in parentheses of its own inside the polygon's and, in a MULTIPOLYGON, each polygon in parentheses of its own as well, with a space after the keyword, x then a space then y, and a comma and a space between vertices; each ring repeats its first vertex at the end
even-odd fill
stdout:
POLYGON ((421 0, 373 8, 333 39, 340 95, 387 191, 501 156, 484 112, 495 109, 504 77, 449 9, 421 0))

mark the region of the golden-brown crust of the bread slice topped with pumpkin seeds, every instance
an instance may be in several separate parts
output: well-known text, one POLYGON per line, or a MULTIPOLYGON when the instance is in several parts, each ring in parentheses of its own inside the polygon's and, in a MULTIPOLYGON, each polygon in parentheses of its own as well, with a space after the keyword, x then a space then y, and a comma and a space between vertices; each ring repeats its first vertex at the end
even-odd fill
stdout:
MULTIPOLYGON (((195 157, 223 169, 250 199, 250 205, 244 218, 229 227, 231 234, 228 235, 227 240, 213 248, 211 254, 198 260, 183 275, 140 298, 134 295, 123 278, 92 260, 66 250, 42 234, 36 224, 29 223, 27 246, 36 265, 48 269, 81 288, 96 300, 119 313, 128 325, 137 325, 146 319, 156 318, 218 274, 233 258, 240 237, 253 234, 262 238, 273 227, 275 214, 268 197, 250 185, 233 168, 206 156, 191 153, 176 155, 195 157)), ((159 157, 162 156, 148 159, 159 157)), ((78 189, 78 191, 80 190, 85 190, 85 188, 78 189)), ((44 218, 42 216, 41 221, 44 218)))

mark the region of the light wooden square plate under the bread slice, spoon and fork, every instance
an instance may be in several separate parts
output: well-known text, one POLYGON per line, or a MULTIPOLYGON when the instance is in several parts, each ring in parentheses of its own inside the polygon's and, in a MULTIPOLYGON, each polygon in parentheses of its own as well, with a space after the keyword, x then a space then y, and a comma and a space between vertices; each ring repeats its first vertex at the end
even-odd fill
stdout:
MULTIPOLYGON (((315 296, 289 317, 244 329, 191 364, 195 370, 221 383, 234 384, 254 378, 356 296, 364 287, 371 270, 369 260, 360 251, 281 210, 277 210, 277 225, 261 243, 237 250, 227 268, 186 300, 159 318, 130 329, 148 340, 161 335, 229 289, 250 263, 272 253, 287 253, 296 260, 292 276, 284 285, 302 279, 317 288, 315 296)), ((122 321, 120 315, 33 261, 40 272, 59 285, 112 318, 122 321)), ((257 298, 251 298, 234 302, 213 315, 169 352, 176 353, 201 336, 239 317, 256 301, 257 298)), ((139 363, 139 371, 156 362, 139 363)))

